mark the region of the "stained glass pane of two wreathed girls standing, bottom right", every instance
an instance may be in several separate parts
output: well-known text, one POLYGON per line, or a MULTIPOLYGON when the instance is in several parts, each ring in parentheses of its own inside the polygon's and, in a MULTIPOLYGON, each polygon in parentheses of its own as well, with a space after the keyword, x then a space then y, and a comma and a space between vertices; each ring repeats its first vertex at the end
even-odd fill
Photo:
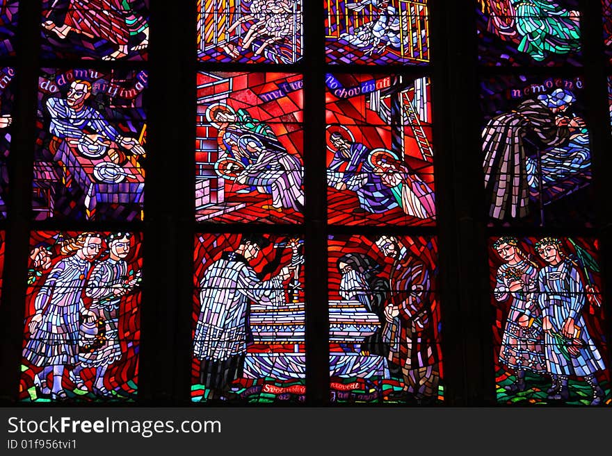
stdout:
POLYGON ((498 403, 601 405, 609 397, 598 244, 490 239, 498 403))

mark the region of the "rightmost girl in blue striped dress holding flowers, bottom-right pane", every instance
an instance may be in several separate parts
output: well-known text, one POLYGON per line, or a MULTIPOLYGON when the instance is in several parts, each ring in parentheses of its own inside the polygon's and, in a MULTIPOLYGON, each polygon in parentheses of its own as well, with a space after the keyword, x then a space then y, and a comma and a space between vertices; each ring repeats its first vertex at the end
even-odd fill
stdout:
POLYGON ((586 291, 579 271, 561 249, 561 241, 552 237, 536 243, 538 254, 548 263, 538 273, 546 365, 553 378, 548 398, 567 400, 567 381, 575 375, 593 388, 591 405, 599 405, 604 391, 596 374, 606 366, 582 315, 586 291))

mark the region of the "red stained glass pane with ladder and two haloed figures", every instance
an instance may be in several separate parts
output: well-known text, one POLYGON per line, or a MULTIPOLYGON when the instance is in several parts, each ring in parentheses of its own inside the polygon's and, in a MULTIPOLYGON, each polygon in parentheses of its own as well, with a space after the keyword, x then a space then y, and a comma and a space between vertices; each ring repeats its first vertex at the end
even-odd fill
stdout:
POLYGON ((328 220, 435 223, 429 78, 328 74, 328 220))

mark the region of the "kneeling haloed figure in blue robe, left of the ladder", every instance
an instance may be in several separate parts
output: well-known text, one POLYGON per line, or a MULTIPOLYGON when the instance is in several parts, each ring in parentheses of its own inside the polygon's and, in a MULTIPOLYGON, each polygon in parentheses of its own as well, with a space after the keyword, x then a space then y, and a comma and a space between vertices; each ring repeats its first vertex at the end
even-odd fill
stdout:
POLYGON ((337 151, 328 166, 328 185, 357 194, 360 207, 353 214, 380 214, 398 206, 392 189, 374 173, 373 164, 368 160, 370 150, 364 144, 351 142, 337 132, 332 133, 330 142, 337 151), (346 167, 341 169, 343 164, 346 167))

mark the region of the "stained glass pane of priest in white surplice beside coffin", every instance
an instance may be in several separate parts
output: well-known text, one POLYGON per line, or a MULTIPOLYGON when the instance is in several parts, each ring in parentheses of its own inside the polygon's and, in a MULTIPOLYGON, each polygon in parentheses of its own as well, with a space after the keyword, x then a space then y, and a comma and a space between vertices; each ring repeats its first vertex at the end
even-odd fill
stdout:
POLYGON ((303 240, 203 234, 194 260, 193 402, 303 402, 303 240))

